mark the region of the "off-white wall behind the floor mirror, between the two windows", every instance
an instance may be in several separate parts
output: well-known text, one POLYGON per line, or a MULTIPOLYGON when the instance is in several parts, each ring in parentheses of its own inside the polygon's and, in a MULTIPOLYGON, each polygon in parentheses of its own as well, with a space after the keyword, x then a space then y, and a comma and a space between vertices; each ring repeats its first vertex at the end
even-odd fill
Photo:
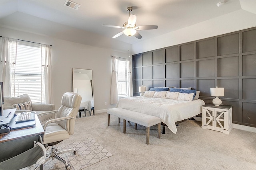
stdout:
MULTIPOLYGON (((60 107, 62 95, 72 89, 72 68, 90 69, 93 72, 94 106, 96 113, 106 111, 110 105, 111 55, 129 58, 127 51, 104 49, 73 43, 34 33, 0 27, 0 35, 26 41, 52 45, 52 86, 54 104, 60 107), (105 106, 104 103, 107 102, 105 106)), ((131 45, 127 44, 126 49, 131 45)))

